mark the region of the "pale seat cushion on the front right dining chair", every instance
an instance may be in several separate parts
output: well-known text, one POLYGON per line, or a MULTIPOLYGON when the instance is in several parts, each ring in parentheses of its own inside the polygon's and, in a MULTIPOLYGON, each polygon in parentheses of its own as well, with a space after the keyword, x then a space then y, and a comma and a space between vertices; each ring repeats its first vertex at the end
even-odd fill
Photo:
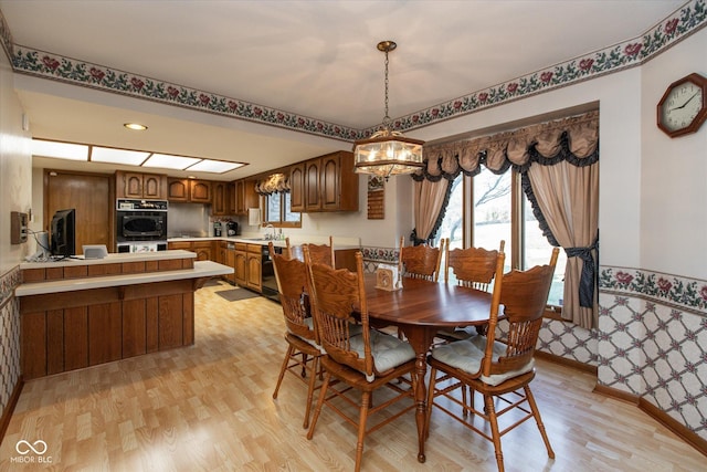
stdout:
MULTIPOLYGON (((444 344, 432 349, 432 357, 451 367, 464 370, 468 374, 477 374, 484 358, 486 349, 486 336, 472 336, 468 339, 455 340, 454 343, 444 344)), ((500 356, 506 355, 506 345, 494 342, 493 360, 497 361, 500 356)), ((521 374, 529 373, 535 367, 535 359, 530 359, 528 364, 517 370, 509 370, 504 374, 494 374, 489 377, 481 376, 482 381, 488 385, 497 386, 517 377, 521 374)))

